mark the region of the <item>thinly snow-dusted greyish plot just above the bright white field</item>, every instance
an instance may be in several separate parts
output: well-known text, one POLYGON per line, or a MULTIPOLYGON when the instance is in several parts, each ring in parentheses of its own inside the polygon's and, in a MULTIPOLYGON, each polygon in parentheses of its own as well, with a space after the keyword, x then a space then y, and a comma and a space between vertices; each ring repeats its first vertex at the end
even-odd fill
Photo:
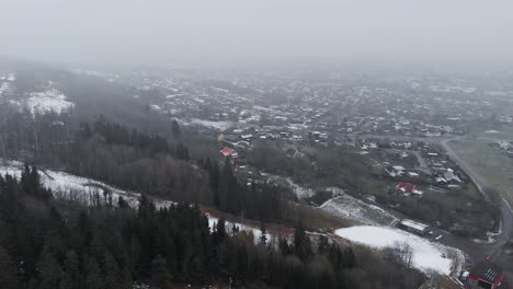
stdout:
POLYGON ((392 226, 398 218, 388 211, 354 198, 347 194, 332 198, 319 207, 321 210, 344 219, 373 226, 392 226))

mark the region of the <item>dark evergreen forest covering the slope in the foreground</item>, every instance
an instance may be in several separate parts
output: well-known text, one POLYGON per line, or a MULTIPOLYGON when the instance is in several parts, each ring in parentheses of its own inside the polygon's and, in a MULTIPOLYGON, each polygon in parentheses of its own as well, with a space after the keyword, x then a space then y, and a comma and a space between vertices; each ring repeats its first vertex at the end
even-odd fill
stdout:
POLYGON ((156 209, 145 196, 137 210, 81 207, 54 199, 35 167, 20 181, 0 177, 2 288, 172 288, 176 284, 231 284, 237 288, 412 288, 421 274, 364 250, 317 244, 299 226, 278 246, 224 220, 208 228, 195 206, 156 209), (372 277, 371 277, 372 276, 372 277), (398 281, 401 280, 401 281, 398 281))

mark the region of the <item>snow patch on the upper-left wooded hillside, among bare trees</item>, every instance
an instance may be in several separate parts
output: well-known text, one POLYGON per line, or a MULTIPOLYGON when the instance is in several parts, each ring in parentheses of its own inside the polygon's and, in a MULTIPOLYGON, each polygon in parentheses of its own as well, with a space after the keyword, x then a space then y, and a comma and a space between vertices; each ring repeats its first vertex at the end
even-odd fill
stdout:
POLYGON ((33 115, 44 115, 47 113, 61 114, 75 107, 75 104, 66 99, 66 95, 58 90, 49 89, 43 92, 31 93, 29 100, 26 100, 26 106, 33 115))

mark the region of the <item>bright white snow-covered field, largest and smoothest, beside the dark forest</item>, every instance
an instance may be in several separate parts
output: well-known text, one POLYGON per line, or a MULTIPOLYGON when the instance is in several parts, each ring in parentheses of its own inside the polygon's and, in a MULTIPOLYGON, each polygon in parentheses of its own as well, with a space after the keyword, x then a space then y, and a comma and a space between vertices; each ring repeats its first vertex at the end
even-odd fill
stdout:
POLYGON ((374 248, 385 248, 394 246, 397 242, 406 242, 413 250, 412 265, 424 273, 436 271, 448 275, 457 269, 456 264, 460 264, 464 259, 463 253, 458 250, 432 243, 399 229, 357 226, 337 230, 335 234, 374 248), (448 256, 456 256, 456 262, 448 256))

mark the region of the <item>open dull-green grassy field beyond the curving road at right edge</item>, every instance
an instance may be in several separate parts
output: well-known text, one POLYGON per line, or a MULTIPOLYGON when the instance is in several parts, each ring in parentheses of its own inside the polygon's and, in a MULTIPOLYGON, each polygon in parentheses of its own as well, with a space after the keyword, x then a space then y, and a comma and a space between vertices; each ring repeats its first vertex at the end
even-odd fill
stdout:
POLYGON ((476 174, 499 189, 513 206, 513 159, 482 140, 455 140, 448 144, 476 174))

